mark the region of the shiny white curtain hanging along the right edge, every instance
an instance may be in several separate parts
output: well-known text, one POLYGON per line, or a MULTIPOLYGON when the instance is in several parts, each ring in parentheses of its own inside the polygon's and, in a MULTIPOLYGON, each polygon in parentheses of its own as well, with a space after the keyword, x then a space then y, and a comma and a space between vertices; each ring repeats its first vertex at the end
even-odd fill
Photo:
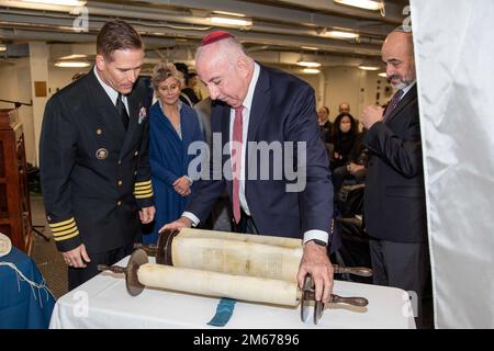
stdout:
POLYGON ((494 1, 411 0, 437 328, 494 328, 494 1))

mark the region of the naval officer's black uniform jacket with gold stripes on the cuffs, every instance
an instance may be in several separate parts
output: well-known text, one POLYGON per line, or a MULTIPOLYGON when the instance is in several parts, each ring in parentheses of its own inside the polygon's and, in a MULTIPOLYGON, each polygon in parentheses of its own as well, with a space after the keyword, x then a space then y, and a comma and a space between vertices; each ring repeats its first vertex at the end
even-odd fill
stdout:
POLYGON ((137 210, 153 205, 147 89, 127 97, 125 132, 114 103, 91 70, 46 104, 40 140, 48 224, 60 251, 128 245, 139 234, 137 210))

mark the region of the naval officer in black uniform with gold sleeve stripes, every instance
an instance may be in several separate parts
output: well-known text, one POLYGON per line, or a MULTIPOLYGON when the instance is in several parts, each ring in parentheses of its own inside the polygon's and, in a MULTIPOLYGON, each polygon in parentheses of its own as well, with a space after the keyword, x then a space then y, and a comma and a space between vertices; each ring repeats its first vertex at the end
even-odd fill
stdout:
POLYGON ((40 140, 41 181, 54 240, 69 265, 69 290, 132 252, 154 218, 147 87, 138 33, 106 23, 89 73, 49 99, 40 140), (137 82, 136 82, 137 81, 137 82))

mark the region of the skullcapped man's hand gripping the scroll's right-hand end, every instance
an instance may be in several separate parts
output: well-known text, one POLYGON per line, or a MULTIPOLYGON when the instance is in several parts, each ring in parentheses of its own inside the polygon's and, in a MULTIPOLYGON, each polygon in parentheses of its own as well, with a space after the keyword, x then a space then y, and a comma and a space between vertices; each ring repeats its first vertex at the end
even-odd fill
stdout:
POLYGON ((303 287, 304 278, 311 273, 315 284, 315 297, 323 303, 329 302, 333 293, 333 264, 327 257, 326 247, 314 241, 304 245, 304 254, 300 262, 297 281, 300 288, 303 287))

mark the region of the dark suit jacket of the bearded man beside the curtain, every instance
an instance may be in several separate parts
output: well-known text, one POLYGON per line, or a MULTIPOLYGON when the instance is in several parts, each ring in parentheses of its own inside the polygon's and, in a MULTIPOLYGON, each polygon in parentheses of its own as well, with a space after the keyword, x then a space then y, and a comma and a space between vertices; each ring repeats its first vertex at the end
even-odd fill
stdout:
POLYGON ((364 219, 371 237, 426 241, 426 210, 417 89, 413 87, 385 123, 366 134, 370 151, 364 219))

